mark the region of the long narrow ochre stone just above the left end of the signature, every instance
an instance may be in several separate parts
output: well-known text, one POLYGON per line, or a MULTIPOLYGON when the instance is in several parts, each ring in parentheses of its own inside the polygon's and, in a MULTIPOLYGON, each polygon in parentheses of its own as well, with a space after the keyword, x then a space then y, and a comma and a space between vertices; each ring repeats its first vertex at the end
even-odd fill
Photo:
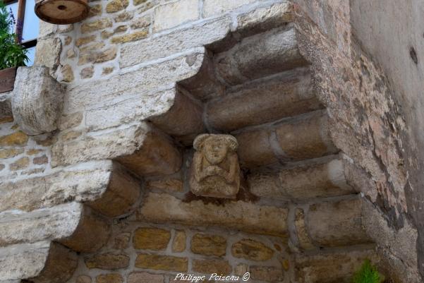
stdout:
POLYGON ((187 272, 188 258, 178 258, 170 255, 139 254, 135 259, 135 267, 187 272))

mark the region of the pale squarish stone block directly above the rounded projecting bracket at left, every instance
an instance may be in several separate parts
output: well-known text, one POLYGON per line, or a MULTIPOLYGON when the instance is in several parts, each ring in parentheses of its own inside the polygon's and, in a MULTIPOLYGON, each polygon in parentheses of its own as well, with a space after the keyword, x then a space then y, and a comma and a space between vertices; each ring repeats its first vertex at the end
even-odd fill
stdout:
MULTIPOLYGON (((61 40, 57 37, 38 40, 35 47, 34 66, 46 66, 47 68, 56 70, 57 66, 59 66, 59 56, 61 51, 61 40)), ((23 84, 20 83, 21 80, 15 80, 15 82, 23 84)))

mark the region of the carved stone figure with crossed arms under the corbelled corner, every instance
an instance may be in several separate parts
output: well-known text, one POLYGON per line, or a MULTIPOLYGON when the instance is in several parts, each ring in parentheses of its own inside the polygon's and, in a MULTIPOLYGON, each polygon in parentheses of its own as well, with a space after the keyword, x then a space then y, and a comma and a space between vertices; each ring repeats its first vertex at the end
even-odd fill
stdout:
POLYGON ((235 198, 240 187, 237 140, 229 135, 203 134, 195 138, 190 189, 195 195, 235 198))

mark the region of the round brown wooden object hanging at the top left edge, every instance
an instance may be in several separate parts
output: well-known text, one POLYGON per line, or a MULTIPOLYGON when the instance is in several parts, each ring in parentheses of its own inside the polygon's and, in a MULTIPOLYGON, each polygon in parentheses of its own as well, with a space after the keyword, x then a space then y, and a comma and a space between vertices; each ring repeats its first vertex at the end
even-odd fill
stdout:
POLYGON ((39 0, 35 3, 38 18, 57 25, 78 23, 87 17, 89 10, 87 0, 39 0))

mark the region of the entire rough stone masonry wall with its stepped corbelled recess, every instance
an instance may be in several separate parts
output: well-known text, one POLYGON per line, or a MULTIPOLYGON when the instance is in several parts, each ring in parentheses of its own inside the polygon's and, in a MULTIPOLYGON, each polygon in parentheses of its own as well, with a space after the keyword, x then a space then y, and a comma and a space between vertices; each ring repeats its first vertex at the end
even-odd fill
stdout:
POLYGON ((348 0, 89 4, 0 94, 1 283, 423 282, 405 109, 348 0))

